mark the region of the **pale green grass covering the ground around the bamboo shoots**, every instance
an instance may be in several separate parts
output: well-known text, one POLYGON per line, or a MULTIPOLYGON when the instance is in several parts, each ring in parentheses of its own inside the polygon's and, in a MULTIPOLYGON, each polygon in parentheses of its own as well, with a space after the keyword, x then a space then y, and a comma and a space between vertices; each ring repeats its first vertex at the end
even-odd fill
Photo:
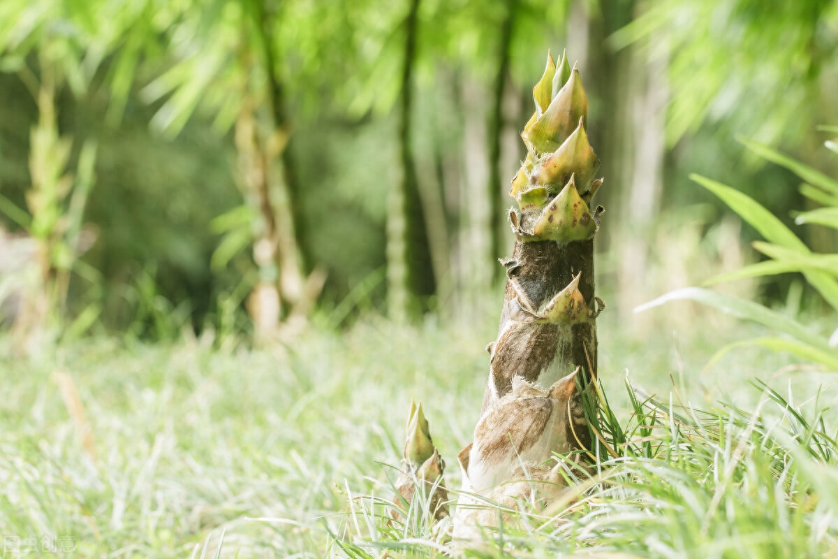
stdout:
MULTIPOLYGON (((668 320, 638 336, 603 315, 598 468, 458 554, 838 556, 832 378, 756 349, 702 371, 742 325, 699 317, 682 338, 668 320), (626 368, 660 405, 625 389, 626 368)), ((442 556, 421 502, 383 520, 392 467, 421 399, 458 488, 493 330, 369 318, 272 349, 98 339, 0 357, 3 556, 45 555, 43 536, 78 557, 442 556)))

